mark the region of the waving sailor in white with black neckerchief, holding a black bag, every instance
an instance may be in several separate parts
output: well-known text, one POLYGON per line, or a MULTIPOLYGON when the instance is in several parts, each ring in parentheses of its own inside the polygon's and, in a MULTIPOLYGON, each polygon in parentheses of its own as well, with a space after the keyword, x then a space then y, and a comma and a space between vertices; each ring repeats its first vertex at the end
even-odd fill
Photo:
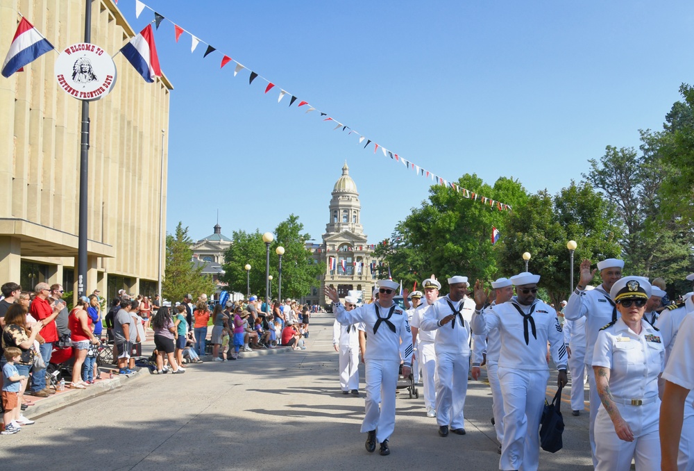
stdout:
POLYGON ((488 293, 475 283, 473 331, 501 333, 499 381, 504 399, 504 438, 499 469, 537 470, 540 440, 537 433, 550 377, 547 344, 557 365, 557 384, 565 386, 566 347, 557 311, 536 298, 540 275, 523 272, 511 276, 516 296, 504 304, 484 309, 488 293))

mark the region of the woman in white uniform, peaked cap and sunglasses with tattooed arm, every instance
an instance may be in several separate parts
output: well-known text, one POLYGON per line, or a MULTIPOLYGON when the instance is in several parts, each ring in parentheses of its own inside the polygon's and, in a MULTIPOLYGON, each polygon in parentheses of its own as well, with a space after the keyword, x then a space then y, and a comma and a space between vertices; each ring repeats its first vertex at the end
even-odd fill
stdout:
POLYGON ((643 319, 651 286, 641 276, 614 283, 610 297, 620 319, 600 329, 593 351, 595 385, 602 406, 595 418, 598 471, 660 469, 658 375, 665 347, 643 319))

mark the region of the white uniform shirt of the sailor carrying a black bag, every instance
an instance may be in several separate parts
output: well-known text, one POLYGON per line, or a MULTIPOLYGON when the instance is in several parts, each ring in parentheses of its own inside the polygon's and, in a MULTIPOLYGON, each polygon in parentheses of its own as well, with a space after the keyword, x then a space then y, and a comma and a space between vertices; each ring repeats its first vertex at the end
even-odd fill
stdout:
POLYGON ((518 304, 516 297, 497 306, 489 306, 481 313, 475 311, 472 320, 473 331, 477 335, 486 335, 491 329, 499 329, 501 333, 501 350, 499 367, 515 368, 516 370, 549 370, 547 364, 547 342, 550 342, 550 352, 557 365, 557 370, 566 370, 566 347, 564 334, 557 320, 557 311, 539 299, 531 306, 518 304), (530 321, 527 325, 528 342, 525 343, 525 319, 518 313, 514 304, 523 313, 530 313, 535 324, 535 336, 532 334, 530 321), (502 321, 503 319, 503 321, 502 321))

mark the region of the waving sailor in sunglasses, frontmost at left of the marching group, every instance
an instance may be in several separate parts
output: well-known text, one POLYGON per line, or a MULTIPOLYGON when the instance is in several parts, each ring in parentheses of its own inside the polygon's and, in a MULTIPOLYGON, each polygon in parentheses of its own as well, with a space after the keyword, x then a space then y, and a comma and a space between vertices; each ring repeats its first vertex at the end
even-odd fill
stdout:
POLYGON ((378 301, 346 311, 337 290, 325 287, 325 295, 333 303, 335 319, 343 325, 363 322, 369 340, 364 355, 366 374, 366 405, 362 433, 368 433, 366 451, 372 453, 376 442, 380 454, 390 454, 388 440, 395 429, 395 400, 398 372, 403 363, 403 377, 412 373, 412 331, 407 314, 393 302, 400 285, 392 280, 379 280, 378 301), (380 410, 379 410, 380 404, 380 410))

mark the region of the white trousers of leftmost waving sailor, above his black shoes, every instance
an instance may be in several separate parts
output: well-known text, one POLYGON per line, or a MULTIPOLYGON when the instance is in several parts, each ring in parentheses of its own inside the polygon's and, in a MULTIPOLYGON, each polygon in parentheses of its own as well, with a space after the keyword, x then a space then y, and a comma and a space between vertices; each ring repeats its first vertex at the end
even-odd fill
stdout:
POLYGON ((362 433, 376 431, 376 440, 388 440, 395 430, 395 392, 400 360, 366 360, 366 404, 362 433), (380 408, 379 408, 380 404, 380 408))

